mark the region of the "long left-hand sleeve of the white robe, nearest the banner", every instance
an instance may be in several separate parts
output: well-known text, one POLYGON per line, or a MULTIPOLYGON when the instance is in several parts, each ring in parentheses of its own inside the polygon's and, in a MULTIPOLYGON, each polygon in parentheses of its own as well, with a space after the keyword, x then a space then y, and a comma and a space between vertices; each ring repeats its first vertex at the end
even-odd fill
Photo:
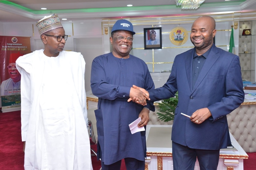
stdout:
POLYGON ((28 62, 29 58, 24 56, 19 57, 16 60, 16 67, 21 75, 20 81, 20 96, 21 96, 21 136, 22 141, 26 141, 27 128, 29 122, 29 113, 30 113, 30 70, 31 65, 28 62), (25 70, 26 69, 26 70, 25 70))

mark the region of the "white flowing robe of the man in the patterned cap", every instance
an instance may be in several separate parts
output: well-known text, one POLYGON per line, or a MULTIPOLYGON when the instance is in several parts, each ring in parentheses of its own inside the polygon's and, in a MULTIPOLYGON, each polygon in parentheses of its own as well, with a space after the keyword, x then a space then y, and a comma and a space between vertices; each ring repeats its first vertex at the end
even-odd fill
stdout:
POLYGON ((92 169, 87 130, 85 62, 81 53, 44 50, 21 56, 22 141, 25 170, 92 169))

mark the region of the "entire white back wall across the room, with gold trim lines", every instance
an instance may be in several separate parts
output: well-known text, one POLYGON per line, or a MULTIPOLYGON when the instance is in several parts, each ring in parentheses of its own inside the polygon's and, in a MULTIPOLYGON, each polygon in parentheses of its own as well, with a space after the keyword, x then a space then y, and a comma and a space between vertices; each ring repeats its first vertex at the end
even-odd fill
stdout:
MULTIPOLYGON (((239 15, 239 14, 236 14, 239 15)), ((241 20, 245 20, 243 16, 256 19, 254 13, 241 14, 241 20)), ((183 45, 177 46, 170 42, 170 31, 175 27, 183 27, 190 34, 190 29, 193 21, 198 16, 176 16, 170 18, 127 18, 133 23, 134 35, 133 50, 131 54, 143 59, 150 71, 169 71, 172 67, 174 57, 191 49, 193 44, 188 38, 183 45), (144 50, 144 28, 158 27, 159 20, 162 25, 162 49, 144 50), (154 65, 152 62, 154 61, 154 65), (151 64, 149 64, 151 63, 151 64)), ((228 50, 231 25, 234 22, 234 16, 214 15, 216 20, 216 46, 228 50)), ((239 22, 239 16, 236 16, 236 21, 239 22)), ((115 23, 116 19, 95 19, 95 20, 77 20, 73 22, 61 21, 67 35, 68 40, 65 45, 65 50, 81 52, 86 60, 86 91, 90 90, 90 68, 92 60, 104 53, 110 52, 110 28, 115 23), (108 28, 108 34, 105 34, 104 29, 108 28)), ((0 23, 0 34, 29 36, 31 37, 31 50, 35 51, 43 48, 37 28, 34 22, 6 22, 0 23)), ((238 31, 234 30, 234 39, 236 51, 238 51, 238 31)))

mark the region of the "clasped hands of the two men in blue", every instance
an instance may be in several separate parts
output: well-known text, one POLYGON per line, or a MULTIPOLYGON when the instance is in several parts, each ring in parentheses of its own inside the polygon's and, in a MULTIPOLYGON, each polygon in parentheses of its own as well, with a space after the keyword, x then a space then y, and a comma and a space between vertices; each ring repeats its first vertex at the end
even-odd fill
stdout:
POLYGON ((149 93, 145 89, 133 85, 130 90, 130 98, 127 102, 133 101, 145 106, 147 105, 146 100, 150 100, 149 93))

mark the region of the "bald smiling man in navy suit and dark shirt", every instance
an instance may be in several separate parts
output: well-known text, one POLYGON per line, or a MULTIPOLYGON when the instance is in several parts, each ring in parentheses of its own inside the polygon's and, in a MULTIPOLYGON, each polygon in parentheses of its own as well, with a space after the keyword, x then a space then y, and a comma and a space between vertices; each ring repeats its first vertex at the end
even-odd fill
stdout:
POLYGON ((217 169, 219 150, 231 144, 226 115, 244 101, 239 57, 217 48, 215 34, 212 17, 197 18, 190 34, 195 48, 175 57, 163 87, 148 90, 151 102, 179 92, 172 127, 176 170, 194 169, 196 158, 200 170, 217 169))

